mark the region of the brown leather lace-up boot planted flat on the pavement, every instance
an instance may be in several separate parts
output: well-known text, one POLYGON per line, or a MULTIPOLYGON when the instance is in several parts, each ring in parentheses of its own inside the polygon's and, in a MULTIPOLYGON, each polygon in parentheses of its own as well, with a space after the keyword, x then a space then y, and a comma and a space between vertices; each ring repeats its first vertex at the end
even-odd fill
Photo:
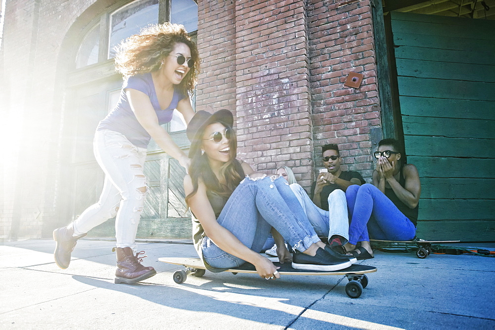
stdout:
POLYGON ((114 248, 117 252, 117 270, 115 271, 115 284, 134 284, 150 278, 156 274, 153 267, 145 267, 141 264, 145 254, 141 251, 134 255, 132 248, 114 248))

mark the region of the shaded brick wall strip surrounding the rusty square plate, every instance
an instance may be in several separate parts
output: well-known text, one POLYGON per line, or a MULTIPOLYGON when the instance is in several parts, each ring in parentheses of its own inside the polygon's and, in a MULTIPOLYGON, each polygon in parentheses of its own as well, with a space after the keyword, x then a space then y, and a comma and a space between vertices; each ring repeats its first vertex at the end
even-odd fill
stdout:
POLYGON ((339 2, 308 1, 315 165, 323 167, 321 146, 336 143, 347 168, 369 179, 369 133, 380 126, 371 8, 368 0, 339 2), (358 89, 344 86, 349 72, 364 75, 358 89))

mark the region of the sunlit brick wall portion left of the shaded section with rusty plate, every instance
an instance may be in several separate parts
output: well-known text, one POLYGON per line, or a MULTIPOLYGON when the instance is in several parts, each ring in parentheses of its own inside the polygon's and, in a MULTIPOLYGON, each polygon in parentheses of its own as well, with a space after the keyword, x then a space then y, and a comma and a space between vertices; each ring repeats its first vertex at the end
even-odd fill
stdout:
POLYGON ((205 65, 197 104, 231 109, 235 101, 239 158, 267 173, 291 166, 308 186, 313 147, 305 3, 199 1, 198 47, 205 65))

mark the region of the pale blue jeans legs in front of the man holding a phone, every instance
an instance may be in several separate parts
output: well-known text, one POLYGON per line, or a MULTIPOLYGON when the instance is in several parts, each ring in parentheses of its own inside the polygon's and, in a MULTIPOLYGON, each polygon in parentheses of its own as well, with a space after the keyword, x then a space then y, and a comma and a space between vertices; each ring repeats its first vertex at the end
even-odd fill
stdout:
POLYGON ((306 191, 297 183, 291 184, 291 189, 319 237, 330 239, 333 235, 339 235, 349 239, 349 216, 344 191, 336 189, 328 195, 329 210, 325 211, 314 205, 306 191))

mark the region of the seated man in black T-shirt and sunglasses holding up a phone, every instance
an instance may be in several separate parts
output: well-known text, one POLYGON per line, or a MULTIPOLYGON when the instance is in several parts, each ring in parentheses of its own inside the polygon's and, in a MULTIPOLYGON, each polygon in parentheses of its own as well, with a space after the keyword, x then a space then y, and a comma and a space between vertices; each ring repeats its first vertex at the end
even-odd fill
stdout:
MULTIPOLYGON (((311 200, 313 203, 330 213, 328 227, 323 229, 323 234, 328 235, 331 246, 344 244, 348 239, 348 215, 345 191, 353 184, 365 183, 361 174, 355 171, 343 171, 341 169, 342 158, 339 146, 326 144, 322 147, 323 165, 316 181, 311 186, 311 200), (325 233, 326 232, 326 233, 325 233)), ((317 224, 313 224, 315 230, 317 224)), ((320 233, 316 230, 318 235, 320 233)), ((338 252, 343 252, 337 250, 338 252)))

